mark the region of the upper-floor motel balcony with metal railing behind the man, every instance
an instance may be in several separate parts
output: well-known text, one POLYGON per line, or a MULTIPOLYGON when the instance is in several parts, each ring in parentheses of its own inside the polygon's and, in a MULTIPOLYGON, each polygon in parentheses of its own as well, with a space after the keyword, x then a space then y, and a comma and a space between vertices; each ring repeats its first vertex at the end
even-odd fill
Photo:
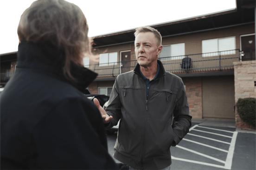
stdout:
MULTIPOLYGON (((233 70, 233 62, 241 61, 239 49, 218 51, 212 53, 192 54, 185 56, 162 57, 166 71, 175 74, 205 73, 224 70, 233 70)), ((126 73, 134 69, 137 61, 112 62, 94 64, 86 67, 98 73, 97 78, 116 77, 120 73, 126 73)))

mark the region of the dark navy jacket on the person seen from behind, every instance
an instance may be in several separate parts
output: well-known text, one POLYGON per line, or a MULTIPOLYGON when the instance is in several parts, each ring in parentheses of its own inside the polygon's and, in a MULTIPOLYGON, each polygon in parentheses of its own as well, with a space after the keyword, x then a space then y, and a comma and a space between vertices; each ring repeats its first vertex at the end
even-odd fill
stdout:
POLYGON ((96 73, 71 64, 62 50, 21 42, 18 64, 0 98, 1 169, 116 169, 101 115, 81 92, 96 73))

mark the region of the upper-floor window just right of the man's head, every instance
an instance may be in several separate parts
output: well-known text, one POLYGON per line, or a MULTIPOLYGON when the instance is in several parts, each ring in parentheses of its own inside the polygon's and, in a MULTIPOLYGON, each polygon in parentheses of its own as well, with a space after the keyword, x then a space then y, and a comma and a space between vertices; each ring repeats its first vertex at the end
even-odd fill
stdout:
POLYGON ((183 59, 185 56, 185 43, 171 44, 163 46, 159 58, 170 57, 171 60, 183 59), (175 57, 174 57, 175 56, 175 57))

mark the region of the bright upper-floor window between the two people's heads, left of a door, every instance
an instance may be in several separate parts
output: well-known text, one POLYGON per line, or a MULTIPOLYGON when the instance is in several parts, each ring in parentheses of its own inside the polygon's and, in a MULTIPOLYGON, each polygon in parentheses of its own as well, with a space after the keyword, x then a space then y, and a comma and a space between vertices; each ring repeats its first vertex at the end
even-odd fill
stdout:
POLYGON ((111 66, 117 63, 117 52, 100 54, 100 66, 111 66))

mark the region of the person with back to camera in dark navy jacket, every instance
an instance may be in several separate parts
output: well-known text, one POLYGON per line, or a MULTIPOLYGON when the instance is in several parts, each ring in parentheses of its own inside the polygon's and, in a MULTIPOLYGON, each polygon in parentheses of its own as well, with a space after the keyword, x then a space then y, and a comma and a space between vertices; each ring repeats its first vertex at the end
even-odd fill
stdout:
POLYGON ((83 91, 97 74, 81 9, 37 0, 22 14, 18 62, 0 98, 1 169, 118 169, 101 115, 83 91))

